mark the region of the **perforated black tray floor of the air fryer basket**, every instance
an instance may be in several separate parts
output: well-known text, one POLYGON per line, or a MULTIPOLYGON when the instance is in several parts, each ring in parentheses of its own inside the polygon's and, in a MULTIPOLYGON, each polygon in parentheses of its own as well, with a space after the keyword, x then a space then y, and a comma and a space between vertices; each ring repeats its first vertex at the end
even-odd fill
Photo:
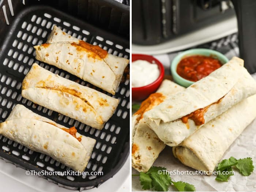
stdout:
MULTIPOLYGON (((6 43, 6 49, 0 57, 0 120, 4 121, 10 114, 12 108, 17 104, 23 104, 33 112, 50 118, 66 127, 75 126, 82 135, 89 136, 97 140, 91 159, 87 165, 86 171, 103 172, 104 176, 114 170, 117 162, 125 161, 121 152, 124 144, 129 140, 129 79, 125 79, 117 89, 116 95, 111 95, 101 89, 91 85, 88 82, 77 78, 52 65, 39 62, 35 59, 35 50, 33 46, 46 42, 54 25, 60 27, 66 33, 87 41, 93 45, 99 45, 108 53, 119 57, 129 59, 129 43, 119 37, 112 36, 104 31, 98 30, 90 25, 70 19, 64 13, 54 10, 32 10, 22 15, 12 38, 6 43), (118 108, 113 117, 105 124, 105 127, 99 131, 88 125, 80 123, 62 114, 53 112, 47 108, 37 105, 21 96, 22 80, 29 71, 33 63, 38 63, 41 67, 58 74, 67 79, 73 80, 83 86, 89 86, 101 91, 119 100, 118 108)), ((126 72, 127 73, 127 72, 126 72)), ((127 74, 124 74, 126 77, 127 74)), ((21 166, 26 168, 25 162, 38 167, 41 170, 63 171, 69 170, 65 165, 55 161, 51 157, 36 153, 27 147, 13 142, 4 136, 0 136, 0 148, 10 157, 22 159, 21 166)), ((127 151, 128 153, 128 151, 127 151)), ((110 175, 111 177, 113 175, 110 175)), ((71 181, 102 181, 101 176, 58 176, 63 178, 64 185, 71 181)))

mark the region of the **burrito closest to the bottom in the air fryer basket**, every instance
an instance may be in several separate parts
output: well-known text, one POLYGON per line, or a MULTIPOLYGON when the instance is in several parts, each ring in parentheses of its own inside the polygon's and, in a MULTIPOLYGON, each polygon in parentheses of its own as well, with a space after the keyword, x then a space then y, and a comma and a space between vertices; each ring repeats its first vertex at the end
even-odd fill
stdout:
POLYGON ((0 123, 0 134, 80 172, 86 168, 96 142, 77 133, 75 127, 59 125, 23 105, 16 105, 0 123))

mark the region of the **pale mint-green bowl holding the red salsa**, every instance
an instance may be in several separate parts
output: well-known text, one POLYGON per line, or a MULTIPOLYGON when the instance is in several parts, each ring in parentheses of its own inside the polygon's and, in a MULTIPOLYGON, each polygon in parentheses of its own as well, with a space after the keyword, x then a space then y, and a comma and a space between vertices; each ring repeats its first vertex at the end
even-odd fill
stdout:
POLYGON ((183 87, 189 87, 195 82, 184 79, 180 75, 178 75, 177 71, 176 71, 177 65, 178 65, 178 63, 180 63, 180 60, 184 59, 185 57, 192 56, 192 55, 211 56, 211 57, 221 61, 222 64, 225 64, 229 61, 229 59, 227 59, 227 57, 225 55, 223 55, 222 53, 217 52, 215 50, 211 50, 211 49, 189 49, 187 51, 184 51, 184 52, 178 54, 172 61, 171 73, 172 73, 174 82, 180 84, 183 87))

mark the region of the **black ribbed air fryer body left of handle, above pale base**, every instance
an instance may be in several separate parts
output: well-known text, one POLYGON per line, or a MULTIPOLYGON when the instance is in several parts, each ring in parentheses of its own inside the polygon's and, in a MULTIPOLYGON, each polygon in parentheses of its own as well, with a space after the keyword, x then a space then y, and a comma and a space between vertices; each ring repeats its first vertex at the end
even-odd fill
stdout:
POLYGON ((234 16, 219 0, 136 0, 132 2, 132 43, 155 45, 234 16))

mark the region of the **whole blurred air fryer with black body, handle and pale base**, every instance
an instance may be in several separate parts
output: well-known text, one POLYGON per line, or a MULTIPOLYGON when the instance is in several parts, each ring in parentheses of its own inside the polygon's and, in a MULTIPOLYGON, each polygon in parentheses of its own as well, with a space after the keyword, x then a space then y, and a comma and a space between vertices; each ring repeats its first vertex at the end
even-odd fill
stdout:
POLYGON ((132 50, 158 54, 187 49, 235 33, 240 57, 256 72, 256 1, 136 0, 132 2, 132 50))

